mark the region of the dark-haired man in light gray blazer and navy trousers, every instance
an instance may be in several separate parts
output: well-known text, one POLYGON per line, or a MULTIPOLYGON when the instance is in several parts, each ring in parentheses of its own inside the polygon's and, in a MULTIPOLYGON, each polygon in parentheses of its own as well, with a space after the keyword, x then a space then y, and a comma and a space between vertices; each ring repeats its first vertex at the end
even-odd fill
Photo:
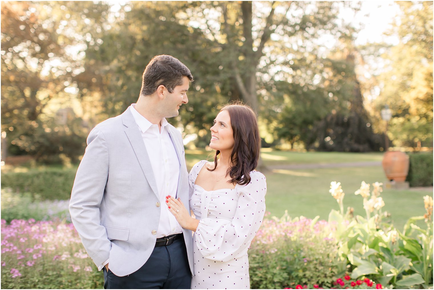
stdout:
POLYGON ((89 134, 69 211, 106 289, 190 289, 191 231, 164 202, 176 196, 188 207, 181 134, 165 118, 188 102, 191 81, 178 59, 155 56, 137 104, 89 134))

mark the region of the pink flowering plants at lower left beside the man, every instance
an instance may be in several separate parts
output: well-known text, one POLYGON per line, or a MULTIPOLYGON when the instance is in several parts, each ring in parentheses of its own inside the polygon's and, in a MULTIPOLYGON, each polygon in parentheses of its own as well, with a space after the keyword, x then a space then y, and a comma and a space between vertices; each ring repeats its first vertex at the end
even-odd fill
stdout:
POLYGON ((1 221, 1 288, 97 289, 104 278, 72 224, 1 221))

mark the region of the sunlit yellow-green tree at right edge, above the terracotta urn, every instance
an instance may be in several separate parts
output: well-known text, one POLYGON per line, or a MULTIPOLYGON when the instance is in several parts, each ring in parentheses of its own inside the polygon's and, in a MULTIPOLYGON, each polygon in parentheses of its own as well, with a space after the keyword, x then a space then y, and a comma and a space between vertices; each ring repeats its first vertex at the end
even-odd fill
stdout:
POLYGON ((390 63, 376 111, 388 104, 393 112, 389 137, 398 146, 433 144, 433 2, 399 1, 401 12, 388 33, 399 43, 383 55, 390 63))

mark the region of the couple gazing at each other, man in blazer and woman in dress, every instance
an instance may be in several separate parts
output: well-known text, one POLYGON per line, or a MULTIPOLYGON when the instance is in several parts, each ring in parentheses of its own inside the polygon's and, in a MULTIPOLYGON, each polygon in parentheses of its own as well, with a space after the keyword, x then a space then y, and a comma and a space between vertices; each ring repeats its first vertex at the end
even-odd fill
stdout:
POLYGON ((155 56, 137 103, 89 134, 69 211, 106 289, 250 288, 247 249, 266 194, 254 171, 256 116, 224 106, 211 127, 214 162, 188 174, 181 134, 165 118, 188 102, 192 81, 178 59, 155 56))

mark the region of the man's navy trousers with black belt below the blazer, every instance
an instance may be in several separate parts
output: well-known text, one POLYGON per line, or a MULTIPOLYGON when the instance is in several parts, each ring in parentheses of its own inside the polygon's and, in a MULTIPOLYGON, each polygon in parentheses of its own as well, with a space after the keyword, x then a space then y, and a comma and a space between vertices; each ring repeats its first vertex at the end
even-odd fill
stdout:
MULTIPOLYGON (((110 263, 109 263, 110 268, 110 263)), ((190 289, 191 271, 188 266, 184 238, 169 246, 155 247, 140 269, 119 277, 104 271, 104 289, 190 289)))

